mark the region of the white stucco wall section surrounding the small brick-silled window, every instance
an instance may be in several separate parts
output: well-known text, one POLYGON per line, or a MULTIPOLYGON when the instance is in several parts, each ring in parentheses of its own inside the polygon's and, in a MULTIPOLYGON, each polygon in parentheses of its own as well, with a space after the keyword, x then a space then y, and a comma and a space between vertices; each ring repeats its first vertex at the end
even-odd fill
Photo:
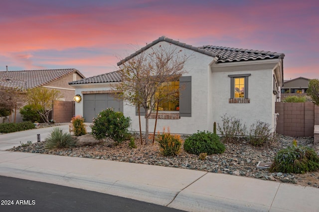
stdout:
POLYGON ((257 120, 274 127, 275 95, 273 94, 274 63, 236 62, 212 66, 213 121, 222 124, 224 114, 236 117, 246 124, 247 130, 257 120), (250 103, 229 103, 229 74, 248 74, 248 98, 250 103))

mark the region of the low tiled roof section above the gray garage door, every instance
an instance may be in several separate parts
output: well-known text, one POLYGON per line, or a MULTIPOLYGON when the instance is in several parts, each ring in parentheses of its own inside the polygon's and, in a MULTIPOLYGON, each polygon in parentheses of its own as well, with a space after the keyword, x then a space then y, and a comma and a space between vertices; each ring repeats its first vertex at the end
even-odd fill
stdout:
POLYGON ((96 76, 91 76, 88 78, 76 80, 69 82, 69 84, 87 84, 87 83, 102 83, 102 82, 120 82, 121 75, 119 71, 113 71, 109 73, 104 73, 96 76))

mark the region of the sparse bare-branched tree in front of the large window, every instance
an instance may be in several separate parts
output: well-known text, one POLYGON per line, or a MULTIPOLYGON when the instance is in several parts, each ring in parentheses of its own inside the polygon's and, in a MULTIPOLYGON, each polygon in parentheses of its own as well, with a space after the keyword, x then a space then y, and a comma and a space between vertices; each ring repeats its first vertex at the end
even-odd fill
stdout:
POLYGON ((186 73, 184 64, 188 58, 182 49, 174 45, 159 45, 141 52, 120 66, 122 82, 115 89, 122 91, 122 99, 145 109, 145 144, 149 143, 149 117, 158 102, 178 96, 178 88, 161 94, 162 83, 177 81, 186 73))

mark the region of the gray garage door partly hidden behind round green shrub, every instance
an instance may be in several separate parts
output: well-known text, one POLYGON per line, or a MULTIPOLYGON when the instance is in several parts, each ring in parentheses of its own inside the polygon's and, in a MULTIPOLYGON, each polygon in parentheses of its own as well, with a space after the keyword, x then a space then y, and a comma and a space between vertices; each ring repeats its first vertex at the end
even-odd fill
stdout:
POLYGON ((83 117, 85 122, 92 122, 92 119, 106 108, 123 112, 123 101, 107 93, 83 94, 83 117))

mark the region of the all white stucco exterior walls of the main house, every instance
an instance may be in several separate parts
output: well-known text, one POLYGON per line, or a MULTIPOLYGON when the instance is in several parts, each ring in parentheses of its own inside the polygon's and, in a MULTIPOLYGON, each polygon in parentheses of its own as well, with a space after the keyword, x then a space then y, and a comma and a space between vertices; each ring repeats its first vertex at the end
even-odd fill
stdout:
MULTIPOLYGON (((160 42, 156 46, 170 45, 160 42)), ((246 124, 247 129, 257 120, 271 124, 274 127, 275 101, 273 94, 273 74, 278 67, 279 60, 261 60, 251 62, 233 62, 215 64, 214 58, 182 49, 187 55, 192 55, 185 63, 184 68, 188 72, 184 76, 191 76, 191 117, 180 117, 177 120, 158 119, 156 132, 162 132, 169 127, 171 133, 192 134, 199 131, 213 131, 213 122, 222 124, 221 117, 224 114, 234 116, 246 124), (230 98, 229 74, 247 74, 249 76, 250 103, 228 103, 230 98)), ((150 51, 151 49, 149 49, 150 51)), ((73 85, 75 94, 82 91, 111 90, 110 83, 92 83, 73 85)), ((131 117, 131 131, 139 131, 139 117, 136 115, 136 107, 124 102, 124 115, 131 117)), ((83 116, 83 100, 75 103, 75 115, 83 116)), ((142 131, 145 132, 145 118, 141 116, 142 131)), ((155 119, 149 119, 149 132, 154 132, 155 119)))

